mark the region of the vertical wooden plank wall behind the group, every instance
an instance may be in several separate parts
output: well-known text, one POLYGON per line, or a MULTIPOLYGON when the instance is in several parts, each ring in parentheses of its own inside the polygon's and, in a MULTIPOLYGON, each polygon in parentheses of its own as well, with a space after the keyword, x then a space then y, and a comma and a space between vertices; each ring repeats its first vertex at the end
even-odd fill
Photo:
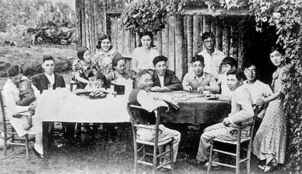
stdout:
MULTIPOLYGON (((102 8, 98 8, 95 0, 76 0, 77 15, 79 18, 78 31, 79 45, 86 46, 95 53, 95 46, 100 34, 104 32, 105 22, 102 18, 102 8), (84 5, 84 7, 83 7, 84 5), (85 19, 85 20, 83 20, 85 19)), ((132 35, 121 24, 120 14, 107 13, 107 33, 111 34, 113 46, 122 55, 131 55, 138 46, 138 35, 132 35)), ((176 76, 182 80, 187 73, 193 55, 202 51, 201 34, 213 32, 216 36, 216 49, 226 56, 238 60, 241 68, 246 54, 245 37, 246 25, 242 20, 251 18, 242 17, 237 24, 230 24, 234 20, 229 16, 211 15, 177 15, 168 18, 166 28, 154 38, 155 49, 168 58, 168 68, 175 71, 176 76)), ((249 26, 253 28, 254 26, 249 26)))

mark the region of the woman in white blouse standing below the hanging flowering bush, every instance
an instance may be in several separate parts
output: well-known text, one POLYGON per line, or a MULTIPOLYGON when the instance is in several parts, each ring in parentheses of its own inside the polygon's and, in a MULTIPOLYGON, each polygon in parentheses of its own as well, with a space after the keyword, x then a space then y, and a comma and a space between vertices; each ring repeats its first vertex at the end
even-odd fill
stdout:
POLYGON ((141 70, 154 67, 153 58, 159 56, 159 53, 153 47, 153 34, 151 32, 141 33, 139 47, 132 53, 132 71, 139 73, 141 70))

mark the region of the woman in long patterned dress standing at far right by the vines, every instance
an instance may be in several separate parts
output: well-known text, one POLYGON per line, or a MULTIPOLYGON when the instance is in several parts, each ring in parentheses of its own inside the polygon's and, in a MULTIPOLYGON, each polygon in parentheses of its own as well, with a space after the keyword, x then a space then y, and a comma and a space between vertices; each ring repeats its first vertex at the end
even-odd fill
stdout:
POLYGON ((282 80, 284 78, 284 50, 280 46, 272 46, 270 58, 277 67, 273 74, 273 94, 261 97, 256 101, 257 105, 269 102, 263 121, 253 141, 253 153, 260 160, 259 168, 269 172, 279 163, 284 164, 287 139, 287 117, 284 114, 284 100, 280 98, 282 93, 282 80))

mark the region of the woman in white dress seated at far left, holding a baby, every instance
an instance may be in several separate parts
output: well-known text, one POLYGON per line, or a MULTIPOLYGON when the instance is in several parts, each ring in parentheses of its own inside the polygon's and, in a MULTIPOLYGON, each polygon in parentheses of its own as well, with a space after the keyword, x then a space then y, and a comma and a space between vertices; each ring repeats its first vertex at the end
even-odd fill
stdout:
MULTIPOLYGON (((43 155, 43 146, 42 146, 42 123, 39 121, 37 116, 32 117, 32 127, 28 130, 24 130, 24 126, 27 125, 26 116, 21 118, 13 118, 12 115, 17 112, 23 112, 27 110, 34 110, 36 106, 36 100, 29 104, 29 106, 18 106, 17 101, 19 98, 19 83, 21 80, 27 79, 23 76, 23 69, 19 65, 13 65, 8 68, 7 76, 9 79, 6 81, 3 87, 3 96, 7 106, 7 116, 11 123, 11 126, 16 130, 18 136, 24 136, 25 134, 35 135, 35 144, 34 150, 40 154, 40 157, 43 155)), ((34 95, 38 99, 40 96, 39 90, 32 86, 34 90, 34 95)))

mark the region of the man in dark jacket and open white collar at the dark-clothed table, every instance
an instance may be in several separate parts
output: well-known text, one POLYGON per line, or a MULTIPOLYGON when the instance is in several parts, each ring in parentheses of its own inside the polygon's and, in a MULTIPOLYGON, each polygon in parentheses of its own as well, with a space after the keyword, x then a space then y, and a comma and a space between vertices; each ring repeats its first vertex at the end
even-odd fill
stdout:
POLYGON ((152 76, 153 85, 151 91, 182 90, 181 82, 175 73, 167 70, 167 61, 168 59, 164 56, 156 56, 153 59, 155 73, 152 76))

